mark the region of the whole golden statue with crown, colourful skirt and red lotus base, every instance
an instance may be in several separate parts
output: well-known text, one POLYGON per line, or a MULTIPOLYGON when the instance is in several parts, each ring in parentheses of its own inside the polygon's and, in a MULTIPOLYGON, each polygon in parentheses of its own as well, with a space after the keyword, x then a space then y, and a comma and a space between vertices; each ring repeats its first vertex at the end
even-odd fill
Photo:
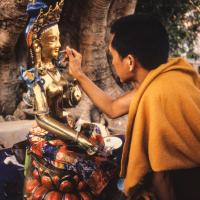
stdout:
MULTIPOLYGON (((116 172, 116 165, 103 156, 98 127, 86 124, 78 132, 63 120, 66 109, 81 100, 77 82, 64 78, 55 66, 61 47, 57 23, 63 2, 40 10, 27 28, 33 68, 24 70, 22 76, 33 96, 37 122, 28 135, 27 200, 95 199, 116 172)), ((44 5, 34 1, 31 9, 37 3, 44 5)))

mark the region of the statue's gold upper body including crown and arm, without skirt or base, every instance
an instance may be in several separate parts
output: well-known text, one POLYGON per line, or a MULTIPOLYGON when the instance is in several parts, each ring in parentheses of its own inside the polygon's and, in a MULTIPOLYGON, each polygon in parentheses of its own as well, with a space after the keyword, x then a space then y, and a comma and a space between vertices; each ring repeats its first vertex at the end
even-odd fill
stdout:
MULTIPOLYGON (((64 140, 78 142, 92 154, 97 151, 84 136, 67 128, 59 119, 65 116, 65 108, 73 107, 81 99, 81 91, 76 82, 69 82, 58 71, 53 60, 58 58, 60 44, 59 21, 63 0, 48 12, 40 11, 27 36, 32 62, 41 78, 33 85, 35 118, 38 125, 64 140), (42 86, 41 86, 42 85, 42 86), (58 120, 56 120, 58 119, 58 120)), ((27 72, 29 79, 33 74, 27 72)))

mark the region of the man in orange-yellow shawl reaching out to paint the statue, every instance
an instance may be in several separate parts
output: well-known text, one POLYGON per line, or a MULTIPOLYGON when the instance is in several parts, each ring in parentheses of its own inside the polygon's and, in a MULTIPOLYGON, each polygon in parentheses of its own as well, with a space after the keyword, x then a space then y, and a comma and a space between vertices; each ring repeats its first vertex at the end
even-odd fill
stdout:
POLYGON ((128 199, 200 199, 200 77, 183 58, 169 58, 168 34, 154 17, 130 15, 111 27, 112 64, 136 87, 113 99, 82 71, 66 48, 70 73, 111 118, 128 114, 121 160, 128 199), (109 105, 109 106, 108 106, 109 105))

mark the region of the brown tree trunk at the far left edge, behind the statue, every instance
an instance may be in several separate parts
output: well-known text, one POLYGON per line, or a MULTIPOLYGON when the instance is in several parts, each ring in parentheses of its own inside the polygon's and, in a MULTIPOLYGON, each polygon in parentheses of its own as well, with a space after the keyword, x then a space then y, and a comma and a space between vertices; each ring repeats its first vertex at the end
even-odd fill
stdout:
POLYGON ((19 102, 15 45, 25 26, 27 2, 0 1, 0 115, 12 114, 19 102))

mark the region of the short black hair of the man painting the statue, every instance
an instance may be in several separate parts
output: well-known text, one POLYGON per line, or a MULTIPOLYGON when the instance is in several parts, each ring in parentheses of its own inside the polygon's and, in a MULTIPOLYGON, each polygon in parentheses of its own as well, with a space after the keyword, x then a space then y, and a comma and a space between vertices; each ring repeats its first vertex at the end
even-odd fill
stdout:
POLYGON ((111 26, 112 47, 122 58, 128 54, 151 70, 166 63, 169 39, 164 26, 153 16, 134 14, 122 17, 111 26))

